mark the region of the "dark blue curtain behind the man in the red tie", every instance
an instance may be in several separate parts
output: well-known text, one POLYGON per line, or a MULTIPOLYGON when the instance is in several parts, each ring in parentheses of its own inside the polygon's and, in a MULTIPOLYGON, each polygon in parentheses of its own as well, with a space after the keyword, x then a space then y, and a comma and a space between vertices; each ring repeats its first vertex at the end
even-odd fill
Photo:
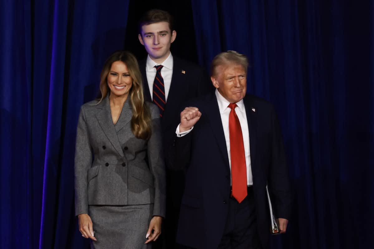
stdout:
POLYGON ((373 231, 372 1, 192 1, 199 62, 249 56, 248 92, 270 100, 294 205, 274 248, 369 248, 373 231))

